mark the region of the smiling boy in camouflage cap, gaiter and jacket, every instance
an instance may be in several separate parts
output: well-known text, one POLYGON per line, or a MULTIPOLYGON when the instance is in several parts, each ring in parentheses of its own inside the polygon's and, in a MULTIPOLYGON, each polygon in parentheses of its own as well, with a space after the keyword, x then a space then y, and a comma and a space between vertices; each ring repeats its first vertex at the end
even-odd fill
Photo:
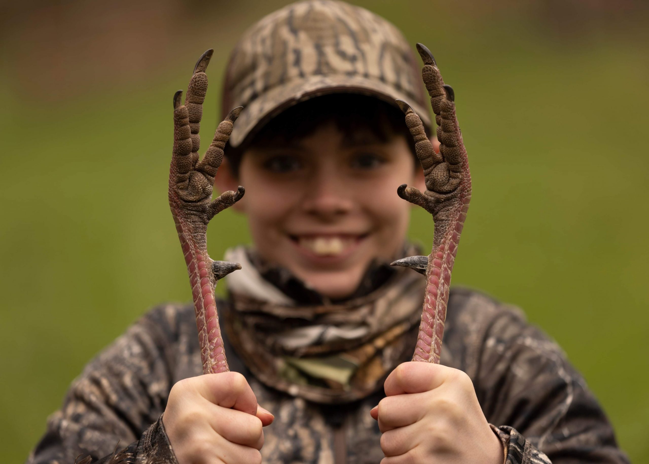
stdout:
POLYGON ((75 380, 28 462, 627 462, 556 345, 485 296, 454 290, 441 365, 407 362, 425 283, 387 265, 419 254, 395 188, 426 186, 393 102, 430 133, 418 74, 384 19, 289 5, 232 53, 223 109, 245 108, 199 162, 206 82, 193 79, 187 106, 175 98, 174 148, 192 164, 171 182, 195 206, 202 250, 207 220, 234 203, 254 241, 228 253, 242 269, 216 303, 223 338, 201 353, 191 307, 151 311, 75 380), (225 192, 215 203, 212 181, 225 192), (227 369, 224 350, 231 372, 200 375, 206 362, 227 369))

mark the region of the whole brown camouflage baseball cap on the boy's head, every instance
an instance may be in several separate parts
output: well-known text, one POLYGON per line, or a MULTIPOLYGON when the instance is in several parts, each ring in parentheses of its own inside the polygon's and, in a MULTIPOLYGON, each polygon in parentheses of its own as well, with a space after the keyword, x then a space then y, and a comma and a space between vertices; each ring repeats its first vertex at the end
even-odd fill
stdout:
POLYGON ((230 54, 221 112, 243 106, 230 145, 289 106, 328 93, 406 100, 430 128, 419 69, 400 30, 364 8, 334 0, 285 6, 248 29, 230 54))

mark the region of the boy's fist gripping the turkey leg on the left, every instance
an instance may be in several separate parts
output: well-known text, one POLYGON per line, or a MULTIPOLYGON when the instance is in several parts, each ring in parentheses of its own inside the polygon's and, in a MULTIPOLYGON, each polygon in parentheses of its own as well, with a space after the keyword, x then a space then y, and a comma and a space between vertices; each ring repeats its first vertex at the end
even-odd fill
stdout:
POLYGON ((226 372, 177 382, 162 422, 178 464, 260 464, 262 427, 273 419, 245 377, 226 372))

